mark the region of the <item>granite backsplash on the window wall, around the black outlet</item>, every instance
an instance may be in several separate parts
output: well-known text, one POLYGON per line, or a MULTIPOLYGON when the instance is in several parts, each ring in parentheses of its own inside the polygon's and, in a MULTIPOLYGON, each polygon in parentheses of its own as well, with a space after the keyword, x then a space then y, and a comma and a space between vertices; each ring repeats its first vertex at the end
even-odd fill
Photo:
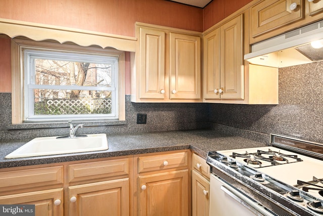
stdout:
MULTIPOLYGON (((0 94, 0 139, 33 139, 44 136, 68 134, 68 123, 52 123, 28 126, 11 125, 11 94, 0 94), (48 128, 50 127, 50 128, 48 128)), ((84 123, 78 131, 82 134, 125 134, 156 131, 178 131, 209 128, 208 104, 203 103, 132 103, 126 96, 126 121, 109 124, 104 122, 84 123), (146 124, 137 124, 137 113, 147 114, 146 124), (93 126, 95 125, 95 126, 93 126)), ((76 124, 76 123, 75 123, 76 124)))

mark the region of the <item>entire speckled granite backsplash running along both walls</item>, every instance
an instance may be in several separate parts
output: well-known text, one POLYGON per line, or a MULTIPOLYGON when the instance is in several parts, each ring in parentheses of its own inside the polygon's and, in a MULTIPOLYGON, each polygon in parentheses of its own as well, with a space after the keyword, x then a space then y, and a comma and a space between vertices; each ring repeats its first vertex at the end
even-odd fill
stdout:
MULTIPOLYGON (((268 134, 283 134, 323 143, 323 62, 281 68, 279 105, 203 103, 132 103, 126 96, 126 121, 81 128, 81 133, 137 133, 214 129, 259 142, 268 134), (147 113, 147 123, 137 124, 137 113, 147 113)), ((54 128, 15 128, 11 125, 11 94, 0 94, 0 139, 61 136, 67 124, 54 128)))

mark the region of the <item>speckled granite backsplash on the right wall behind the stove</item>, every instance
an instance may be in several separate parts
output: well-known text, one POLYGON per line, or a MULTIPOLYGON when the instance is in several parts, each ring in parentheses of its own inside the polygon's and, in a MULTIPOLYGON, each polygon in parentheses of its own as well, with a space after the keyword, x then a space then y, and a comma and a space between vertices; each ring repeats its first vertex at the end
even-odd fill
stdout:
POLYGON ((213 128, 282 134, 323 143, 323 62, 279 69, 279 105, 210 104, 213 128))

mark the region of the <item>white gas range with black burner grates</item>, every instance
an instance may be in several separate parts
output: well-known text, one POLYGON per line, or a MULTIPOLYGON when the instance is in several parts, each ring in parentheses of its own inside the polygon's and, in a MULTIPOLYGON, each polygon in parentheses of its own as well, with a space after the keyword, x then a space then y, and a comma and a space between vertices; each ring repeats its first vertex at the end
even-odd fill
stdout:
MULTIPOLYGON (((231 188, 230 194, 239 197, 234 199, 254 215, 323 215, 323 145, 278 135, 271 135, 271 144, 209 152, 207 163, 213 177, 221 181, 221 190, 231 188), (237 192, 250 198, 250 205, 237 192), (257 209, 259 206, 261 209, 257 209)), ((220 190, 212 190, 219 196, 220 190)), ((210 192, 211 202, 219 199, 214 196, 210 192)), ((219 210, 221 204, 210 206, 219 210)), ((223 210, 227 211, 232 210, 223 210)), ((241 215, 241 210, 228 214, 220 210, 214 215, 234 213, 241 215)))

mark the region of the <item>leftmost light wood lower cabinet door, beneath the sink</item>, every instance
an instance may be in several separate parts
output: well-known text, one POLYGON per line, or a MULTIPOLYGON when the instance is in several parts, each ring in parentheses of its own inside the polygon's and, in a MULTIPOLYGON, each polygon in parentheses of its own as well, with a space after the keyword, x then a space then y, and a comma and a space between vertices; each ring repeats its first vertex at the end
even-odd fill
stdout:
POLYGON ((1 204, 33 204, 36 216, 63 216, 63 188, 0 196, 1 204))

